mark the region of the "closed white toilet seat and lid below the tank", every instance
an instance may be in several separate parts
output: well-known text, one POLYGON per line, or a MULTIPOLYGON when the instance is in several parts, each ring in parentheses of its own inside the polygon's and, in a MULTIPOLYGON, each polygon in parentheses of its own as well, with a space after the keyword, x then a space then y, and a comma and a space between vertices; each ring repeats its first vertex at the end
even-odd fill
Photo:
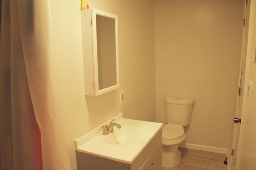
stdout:
POLYGON ((162 130, 164 145, 179 144, 185 140, 184 129, 179 124, 168 123, 163 126, 162 130))

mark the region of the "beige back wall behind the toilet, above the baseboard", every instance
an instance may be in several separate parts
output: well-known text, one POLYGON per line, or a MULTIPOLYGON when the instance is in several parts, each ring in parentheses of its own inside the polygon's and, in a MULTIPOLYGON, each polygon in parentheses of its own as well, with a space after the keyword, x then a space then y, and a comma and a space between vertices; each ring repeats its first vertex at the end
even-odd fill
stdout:
POLYGON ((164 96, 195 98, 186 143, 228 148, 238 84, 243 0, 155 0, 156 121, 164 96))

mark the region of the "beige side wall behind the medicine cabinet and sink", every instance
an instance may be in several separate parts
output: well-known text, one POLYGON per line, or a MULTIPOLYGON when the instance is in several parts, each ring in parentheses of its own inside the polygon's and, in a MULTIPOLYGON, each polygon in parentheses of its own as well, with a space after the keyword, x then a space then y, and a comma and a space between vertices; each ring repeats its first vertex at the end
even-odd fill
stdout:
POLYGON ((50 3, 66 144, 76 170, 76 138, 119 112, 126 118, 155 120, 154 7, 152 0, 89 0, 91 9, 118 15, 120 45, 120 88, 92 97, 84 96, 80 0, 50 3))

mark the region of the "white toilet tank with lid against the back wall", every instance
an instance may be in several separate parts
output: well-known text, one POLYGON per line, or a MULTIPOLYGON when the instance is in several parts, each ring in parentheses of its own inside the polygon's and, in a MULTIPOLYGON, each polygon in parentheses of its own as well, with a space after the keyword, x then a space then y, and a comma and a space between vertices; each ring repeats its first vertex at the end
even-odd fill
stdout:
POLYGON ((194 98, 166 96, 166 122, 187 126, 190 123, 194 98))

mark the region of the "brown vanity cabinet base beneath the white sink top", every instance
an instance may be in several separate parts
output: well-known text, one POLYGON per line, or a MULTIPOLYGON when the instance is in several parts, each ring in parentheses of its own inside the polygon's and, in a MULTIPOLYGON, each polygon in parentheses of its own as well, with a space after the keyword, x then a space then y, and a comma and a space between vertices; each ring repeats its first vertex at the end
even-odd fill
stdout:
MULTIPOLYGON (((120 152, 120 154, 126 154, 120 152)), ((76 151, 78 170, 161 170, 162 128, 137 154, 131 163, 119 162, 76 151)))

